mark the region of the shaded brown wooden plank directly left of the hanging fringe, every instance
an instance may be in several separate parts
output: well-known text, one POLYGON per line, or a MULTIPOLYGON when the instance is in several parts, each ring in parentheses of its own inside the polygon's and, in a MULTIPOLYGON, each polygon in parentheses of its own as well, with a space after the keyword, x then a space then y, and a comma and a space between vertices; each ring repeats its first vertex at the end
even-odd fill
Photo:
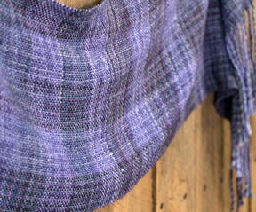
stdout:
POLYGON ((196 211, 221 211, 223 200, 223 122, 213 94, 202 104, 196 149, 196 211))

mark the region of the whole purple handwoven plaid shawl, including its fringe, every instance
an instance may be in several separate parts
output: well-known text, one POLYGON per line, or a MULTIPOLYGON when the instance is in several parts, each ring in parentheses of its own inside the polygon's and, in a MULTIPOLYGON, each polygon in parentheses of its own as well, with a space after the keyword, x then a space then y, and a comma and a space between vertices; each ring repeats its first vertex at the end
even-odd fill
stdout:
POLYGON ((0 211, 90 211, 123 197, 210 92, 231 122, 239 209, 251 193, 252 7, 1 0, 0 211))

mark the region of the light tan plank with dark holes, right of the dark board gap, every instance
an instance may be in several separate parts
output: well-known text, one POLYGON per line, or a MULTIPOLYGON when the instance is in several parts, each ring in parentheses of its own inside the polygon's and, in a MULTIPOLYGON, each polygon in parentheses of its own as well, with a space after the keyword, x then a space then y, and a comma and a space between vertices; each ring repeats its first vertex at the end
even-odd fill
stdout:
POLYGON ((196 136, 200 108, 189 115, 156 163, 156 211, 196 212, 196 136))

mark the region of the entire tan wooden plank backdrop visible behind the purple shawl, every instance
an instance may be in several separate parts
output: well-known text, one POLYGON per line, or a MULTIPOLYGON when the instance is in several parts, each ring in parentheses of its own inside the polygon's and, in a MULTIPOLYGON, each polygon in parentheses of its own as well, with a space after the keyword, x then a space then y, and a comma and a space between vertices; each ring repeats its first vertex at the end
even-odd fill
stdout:
MULTIPOLYGON (((58 1, 80 9, 100 3, 100 0, 58 1)), ((212 102, 211 94, 196 107, 161 159, 131 192, 94 212, 230 211, 230 126, 216 113, 212 102)), ((251 122, 252 192, 256 194, 256 115, 251 122)), ((256 197, 244 199, 240 211, 255 212, 256 197)))

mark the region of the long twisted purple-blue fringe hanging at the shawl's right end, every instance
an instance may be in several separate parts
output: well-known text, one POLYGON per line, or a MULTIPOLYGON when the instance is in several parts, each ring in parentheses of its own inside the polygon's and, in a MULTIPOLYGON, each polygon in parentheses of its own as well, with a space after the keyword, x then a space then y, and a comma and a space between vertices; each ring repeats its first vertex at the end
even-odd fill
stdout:
MULTIPOLYGON (((249 138, 252 134, 250 116, 254 114, 256 108, 256 25, 253 1, 248 0, 243 4, 243 7, 244 12, 243 15, 239 17, 239 21, 236 21, 234 26, 229 28, 230 30, 226 32, 228 56, 235 67, 236 83, 239 88, 236 96, 233 98, 232 106, 232 155, 230 169, 231 210, 234 210, 235 205, 233 188, 233 173, 235 172, 237 212, 240 206, 244 205, 243 198, 252 196, 249 144, 249 138)), ((238 20, 237 17, 235 17, 236 19, 234 18, 234 20, 238 20)), ((232 22, 232 20, 229 21, 232 22)))

